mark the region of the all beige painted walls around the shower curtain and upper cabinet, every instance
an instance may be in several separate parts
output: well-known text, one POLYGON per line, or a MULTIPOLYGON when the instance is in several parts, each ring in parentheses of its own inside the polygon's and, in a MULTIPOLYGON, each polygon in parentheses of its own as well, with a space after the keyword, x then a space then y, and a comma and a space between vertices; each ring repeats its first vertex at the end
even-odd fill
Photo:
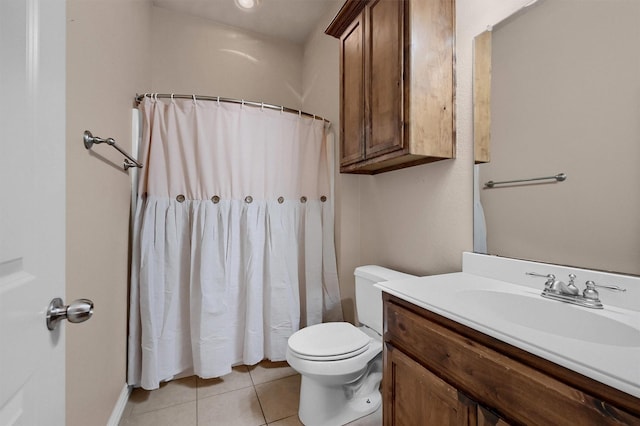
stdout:
MULTIPOLYGON (((472 39, 515 10, 511 3, 526 1, 457 2, 456 160, 377 176, 337 175, 336 246, 348 319, 355 266, 448 272, 459 270, 461 252, 472 248, 472 39)), ((68 0, 67 298, 96 303, 94 318, 67 327, 69 425, 104 424, 126 368, 130 180, 115 150, 84 149, 82 131, 128 147, 131 98, 144 91, 303 107, 339 128, 339 44, 322 34, 325 24, 303 49, 246 33, 238 42, 235 31, 168 13, 140 0, 68 0), (96 31, 97 23, 112 27, 96 31)))

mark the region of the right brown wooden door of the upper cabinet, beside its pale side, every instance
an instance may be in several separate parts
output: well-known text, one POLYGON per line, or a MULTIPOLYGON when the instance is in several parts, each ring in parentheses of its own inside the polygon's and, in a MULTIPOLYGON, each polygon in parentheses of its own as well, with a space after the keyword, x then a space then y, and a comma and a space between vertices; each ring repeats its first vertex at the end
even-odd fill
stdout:
POLYGON ((366 157, 403 148, 405 1, 374 0, 367 13, 366 157))

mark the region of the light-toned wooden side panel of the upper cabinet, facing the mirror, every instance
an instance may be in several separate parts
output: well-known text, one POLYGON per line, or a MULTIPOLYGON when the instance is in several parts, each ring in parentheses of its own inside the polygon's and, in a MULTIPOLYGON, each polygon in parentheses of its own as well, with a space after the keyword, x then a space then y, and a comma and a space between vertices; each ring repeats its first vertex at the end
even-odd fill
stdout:
POLYGON ((409 150, 455 157, 455 15, 453 0, 410 0, 409 150))

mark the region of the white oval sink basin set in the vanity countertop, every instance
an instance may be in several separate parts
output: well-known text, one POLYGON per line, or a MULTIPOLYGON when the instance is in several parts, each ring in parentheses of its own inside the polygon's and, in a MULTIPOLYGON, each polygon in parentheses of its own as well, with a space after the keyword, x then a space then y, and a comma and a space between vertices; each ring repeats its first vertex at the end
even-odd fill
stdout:
POLYGON ((640 330, 585 307, 545 299, 540 294, 493 290, 457 292, 461 304, 472 303, 498 319, 568 339, 600 345, 640 347, 640 330))

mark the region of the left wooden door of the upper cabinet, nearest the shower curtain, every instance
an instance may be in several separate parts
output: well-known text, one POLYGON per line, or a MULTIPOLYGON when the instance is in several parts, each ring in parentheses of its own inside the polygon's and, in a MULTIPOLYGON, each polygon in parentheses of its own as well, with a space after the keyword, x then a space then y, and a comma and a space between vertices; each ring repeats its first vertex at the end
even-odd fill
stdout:
POLYGON ((364 159, 364 35, 364 19, 360 14, 340 39, 341 166, 364 159))

